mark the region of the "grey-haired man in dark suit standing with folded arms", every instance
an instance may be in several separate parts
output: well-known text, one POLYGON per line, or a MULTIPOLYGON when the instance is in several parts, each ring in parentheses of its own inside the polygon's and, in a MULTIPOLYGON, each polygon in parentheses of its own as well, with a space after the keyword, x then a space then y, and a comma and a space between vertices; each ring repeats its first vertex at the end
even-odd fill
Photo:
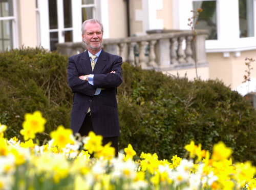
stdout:
POLYGON ((87 50, 69 58, 68 82, 72 89, 73 133, 102 135, 102 143, 112 142, 118 154, 119 120, 117 87, 122 83, 122 58, 102 49, 103 26, 97 19, 82 23, 82 39, 87 50))

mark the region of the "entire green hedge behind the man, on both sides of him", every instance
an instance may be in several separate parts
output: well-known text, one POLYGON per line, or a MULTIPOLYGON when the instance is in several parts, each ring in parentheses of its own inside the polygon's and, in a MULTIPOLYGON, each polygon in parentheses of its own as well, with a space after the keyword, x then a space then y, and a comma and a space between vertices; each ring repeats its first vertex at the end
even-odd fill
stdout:
MULTIPOLYGON (((22 48, 0 56, 0 122, 8 137, 21 138, 25 113, 47 118, 43 140, 58 125, 70 125, 72 92, 67 84, 68 58, 44 49, 22 48)), ((118 88, 120 149, 131 143, 138 154, 160 158, 184 156, 194 140, 211 150, 218 141, 233 149, 236 161, 256 164, 256 112, 237 92, 218 80, 188 81, 123 64, 118 88)))

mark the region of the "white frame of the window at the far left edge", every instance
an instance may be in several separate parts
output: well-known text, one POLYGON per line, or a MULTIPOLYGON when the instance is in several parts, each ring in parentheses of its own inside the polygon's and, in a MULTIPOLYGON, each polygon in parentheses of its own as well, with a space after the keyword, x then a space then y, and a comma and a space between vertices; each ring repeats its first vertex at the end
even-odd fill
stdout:
MULTIPOLYGON (((18 42, 18 22, 17 22, 17 0, 12 1, 13 5, 13 16, 5 16, 5 17, 0 17, 0 21, 2 20, 11 20, 12 22, 12 41, 13 41, 13 48, 18 48, 19 47, 19 42, 18 42)), ((10 49, 8 49, 10 50, 10 49)))

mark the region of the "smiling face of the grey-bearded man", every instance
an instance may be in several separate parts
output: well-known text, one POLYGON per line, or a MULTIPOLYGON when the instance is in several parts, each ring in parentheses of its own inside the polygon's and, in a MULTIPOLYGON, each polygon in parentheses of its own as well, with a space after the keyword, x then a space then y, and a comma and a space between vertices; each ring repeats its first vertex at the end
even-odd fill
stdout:
POLYGON ((99 23, 86 23, 86 31, 82 34, 82 39, 86 42, 88 50, 99 50, 102 45, 103 33, 99 23))

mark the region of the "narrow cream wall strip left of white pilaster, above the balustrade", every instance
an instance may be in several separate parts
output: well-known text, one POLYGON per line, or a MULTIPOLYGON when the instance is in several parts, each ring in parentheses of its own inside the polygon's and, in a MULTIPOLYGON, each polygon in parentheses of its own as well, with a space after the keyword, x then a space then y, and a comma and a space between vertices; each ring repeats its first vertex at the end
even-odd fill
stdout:
POLYGON ((162 0, 163 9, 157 10, 157 19, 163 20, 163 29, 173 29, 173 1, 162 0))

